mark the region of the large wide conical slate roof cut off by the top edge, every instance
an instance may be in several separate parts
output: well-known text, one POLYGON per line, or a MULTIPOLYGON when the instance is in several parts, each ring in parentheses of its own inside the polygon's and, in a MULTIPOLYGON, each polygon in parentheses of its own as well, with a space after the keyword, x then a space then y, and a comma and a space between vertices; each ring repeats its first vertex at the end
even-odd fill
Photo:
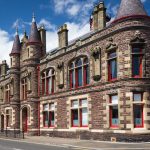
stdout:
POLYGON ((134 15, 147 15, 141 0, 121 0, 116 19, 134 15))

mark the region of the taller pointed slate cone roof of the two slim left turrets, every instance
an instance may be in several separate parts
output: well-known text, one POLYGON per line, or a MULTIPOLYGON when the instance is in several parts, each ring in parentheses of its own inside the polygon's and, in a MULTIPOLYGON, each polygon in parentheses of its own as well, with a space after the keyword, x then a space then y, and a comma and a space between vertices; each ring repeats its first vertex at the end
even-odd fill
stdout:
POLYGON ((32 18, 31 32, 29 36, 29 42, 41 42, 40 34, 35 21, 35 16, 32 18))

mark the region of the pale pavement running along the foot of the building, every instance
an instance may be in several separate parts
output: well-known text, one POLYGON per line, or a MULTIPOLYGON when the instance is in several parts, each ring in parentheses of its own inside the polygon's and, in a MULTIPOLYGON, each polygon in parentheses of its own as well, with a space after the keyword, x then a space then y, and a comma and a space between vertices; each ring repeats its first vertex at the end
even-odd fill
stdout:
POLYGON ((150 148, 150 143, 112 143, 104 141, 93 141, 93 140, 79 140, 79 139, 64 139, 56 137, 45 137, 45 136, 26 136, 25 139, 21 139, 22 142, 44 144, 44 145, 55 145, 55 146, 70 146, 80 148, 150 148))

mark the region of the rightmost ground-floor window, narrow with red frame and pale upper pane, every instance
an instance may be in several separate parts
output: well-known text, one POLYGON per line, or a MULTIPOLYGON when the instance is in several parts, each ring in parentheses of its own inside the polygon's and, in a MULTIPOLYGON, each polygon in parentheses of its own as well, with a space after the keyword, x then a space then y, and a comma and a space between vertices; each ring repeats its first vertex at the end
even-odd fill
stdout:
POLYGON ((134 114, 134 127, 143 127, 143 93, 133 93, 133 114, 134 114))

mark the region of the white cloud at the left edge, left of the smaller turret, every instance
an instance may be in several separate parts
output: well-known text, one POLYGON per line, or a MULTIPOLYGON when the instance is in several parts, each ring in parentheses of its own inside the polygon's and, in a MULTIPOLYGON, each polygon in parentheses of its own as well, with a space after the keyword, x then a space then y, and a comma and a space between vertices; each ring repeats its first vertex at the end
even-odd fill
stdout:
POLYGON ((11 52, 12 45, 13 45, 13 40, 11 40, 11 37, 8 32, 0 29, 0 62, 2 60, 7 60, 7 63, 9 65, 10 63, 10 58, 9 58, 9 53, 11 52))

